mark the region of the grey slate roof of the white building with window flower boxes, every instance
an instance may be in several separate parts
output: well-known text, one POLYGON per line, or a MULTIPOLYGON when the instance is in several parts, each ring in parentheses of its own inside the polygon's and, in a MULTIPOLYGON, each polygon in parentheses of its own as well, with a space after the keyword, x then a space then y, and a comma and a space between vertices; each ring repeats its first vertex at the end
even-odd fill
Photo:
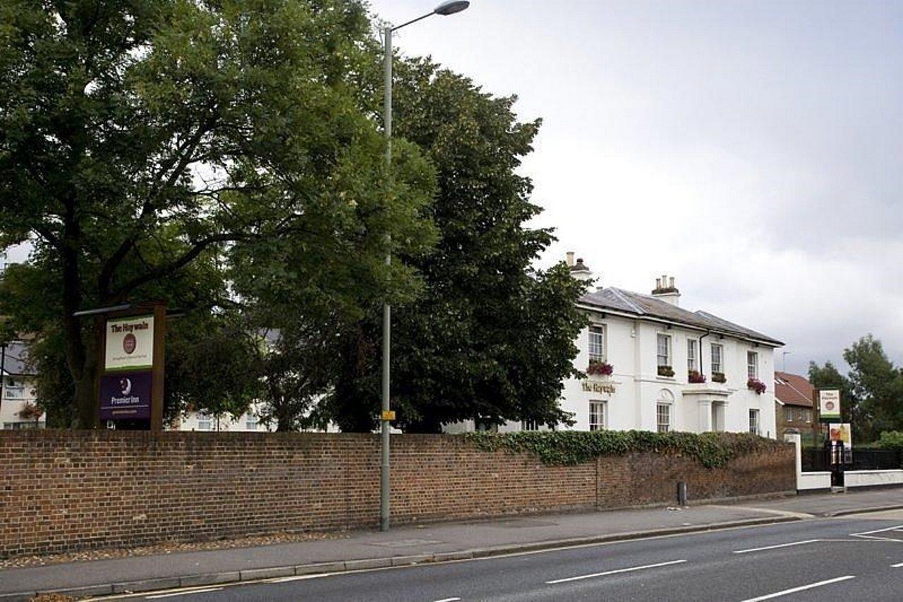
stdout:
POLYGON ((586 306, 598 307, 601 310, 637 315, 639 317, 654 317, 678 325, 687 325, 712 333, 731 334, 743 339, 754 339, 762 343, 781 346, 784 343, 767 334, 761 334, 745 326, 740 326, 708 312, 691 312, 654 296, 642 295, 633 291, 617 287, 606 287, 592 293, 587 293, 580 298, 580 302, 586 306))

